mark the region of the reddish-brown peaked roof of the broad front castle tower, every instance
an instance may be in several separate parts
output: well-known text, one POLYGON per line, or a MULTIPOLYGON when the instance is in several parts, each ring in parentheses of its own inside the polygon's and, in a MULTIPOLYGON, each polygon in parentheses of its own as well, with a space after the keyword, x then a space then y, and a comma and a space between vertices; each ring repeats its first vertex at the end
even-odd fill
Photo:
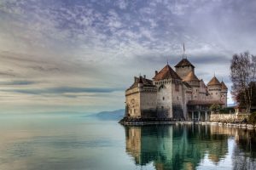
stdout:
POLYGON ((164 80, 168 78, 181 80, 181 78, 177 76, 177 73, 173 71, 171 66, 168 64, 160 72, 158 72, 153 78, 155 81, 164 80))

